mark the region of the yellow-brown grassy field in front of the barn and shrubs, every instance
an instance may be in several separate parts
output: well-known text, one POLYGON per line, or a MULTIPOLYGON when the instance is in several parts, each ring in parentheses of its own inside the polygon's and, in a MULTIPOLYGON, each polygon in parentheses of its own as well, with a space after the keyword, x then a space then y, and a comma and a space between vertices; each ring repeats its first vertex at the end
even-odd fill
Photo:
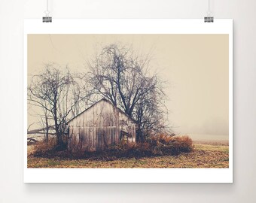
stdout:
MULTIPOLYGON (((47 159, 28 156, 28 168, 228 168, 227 145, 194 144, 194 151, 178 156, 155 156, 141 159, 47 159)), ((32 153, 29 146, 28 154, 32 153)))

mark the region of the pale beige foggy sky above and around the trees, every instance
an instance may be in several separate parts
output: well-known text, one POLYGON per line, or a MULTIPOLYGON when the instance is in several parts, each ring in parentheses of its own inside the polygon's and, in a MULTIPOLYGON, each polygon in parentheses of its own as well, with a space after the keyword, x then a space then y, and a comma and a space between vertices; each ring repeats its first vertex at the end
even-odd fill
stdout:
POLYGON ((86 71, 87 60, 112 43, 151 53, 151 71, 169 82, 175 132, 228 135, 228 35, 28 35, 28 74, 47 62, 86 71))

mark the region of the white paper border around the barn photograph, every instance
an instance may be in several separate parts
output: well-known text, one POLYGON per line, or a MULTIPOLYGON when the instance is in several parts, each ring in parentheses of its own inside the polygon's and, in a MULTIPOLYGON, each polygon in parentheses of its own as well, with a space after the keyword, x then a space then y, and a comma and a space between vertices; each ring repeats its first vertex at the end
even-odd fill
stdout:
MULTIPOLYGON (((233 183, 233 20, 24 20, 24 183, 233 183), (28 34, 228 34, 229 168, 27 168, 28 34)), ((213 56, 214 57, 214 56, 213 56)))

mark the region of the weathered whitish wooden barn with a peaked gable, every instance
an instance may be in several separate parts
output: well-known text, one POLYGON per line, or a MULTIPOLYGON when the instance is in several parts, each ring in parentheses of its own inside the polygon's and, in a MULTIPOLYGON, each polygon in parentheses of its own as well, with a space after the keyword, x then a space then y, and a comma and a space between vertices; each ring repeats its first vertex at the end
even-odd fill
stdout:
POLYGON ((104 150, 121 139, 136 141, 136 122, 102 98, 67 123, 69 150, 104 150))

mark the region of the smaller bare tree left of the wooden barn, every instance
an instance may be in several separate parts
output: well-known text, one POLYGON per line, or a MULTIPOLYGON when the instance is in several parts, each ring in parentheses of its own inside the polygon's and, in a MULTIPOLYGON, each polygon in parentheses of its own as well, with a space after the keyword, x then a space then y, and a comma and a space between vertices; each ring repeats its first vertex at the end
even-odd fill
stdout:
POLYGON ((66 131, 66 120, 78 100, 72 101, 70 95, 75 80, 68 68, 60 71, 54 65, 46 65, 45 71, 34 75, 28 86, 28 101, 44 112, 46 133, 49 134, 49 123, 53 122, 58 146, 63 146, 63 135, 66 131))

